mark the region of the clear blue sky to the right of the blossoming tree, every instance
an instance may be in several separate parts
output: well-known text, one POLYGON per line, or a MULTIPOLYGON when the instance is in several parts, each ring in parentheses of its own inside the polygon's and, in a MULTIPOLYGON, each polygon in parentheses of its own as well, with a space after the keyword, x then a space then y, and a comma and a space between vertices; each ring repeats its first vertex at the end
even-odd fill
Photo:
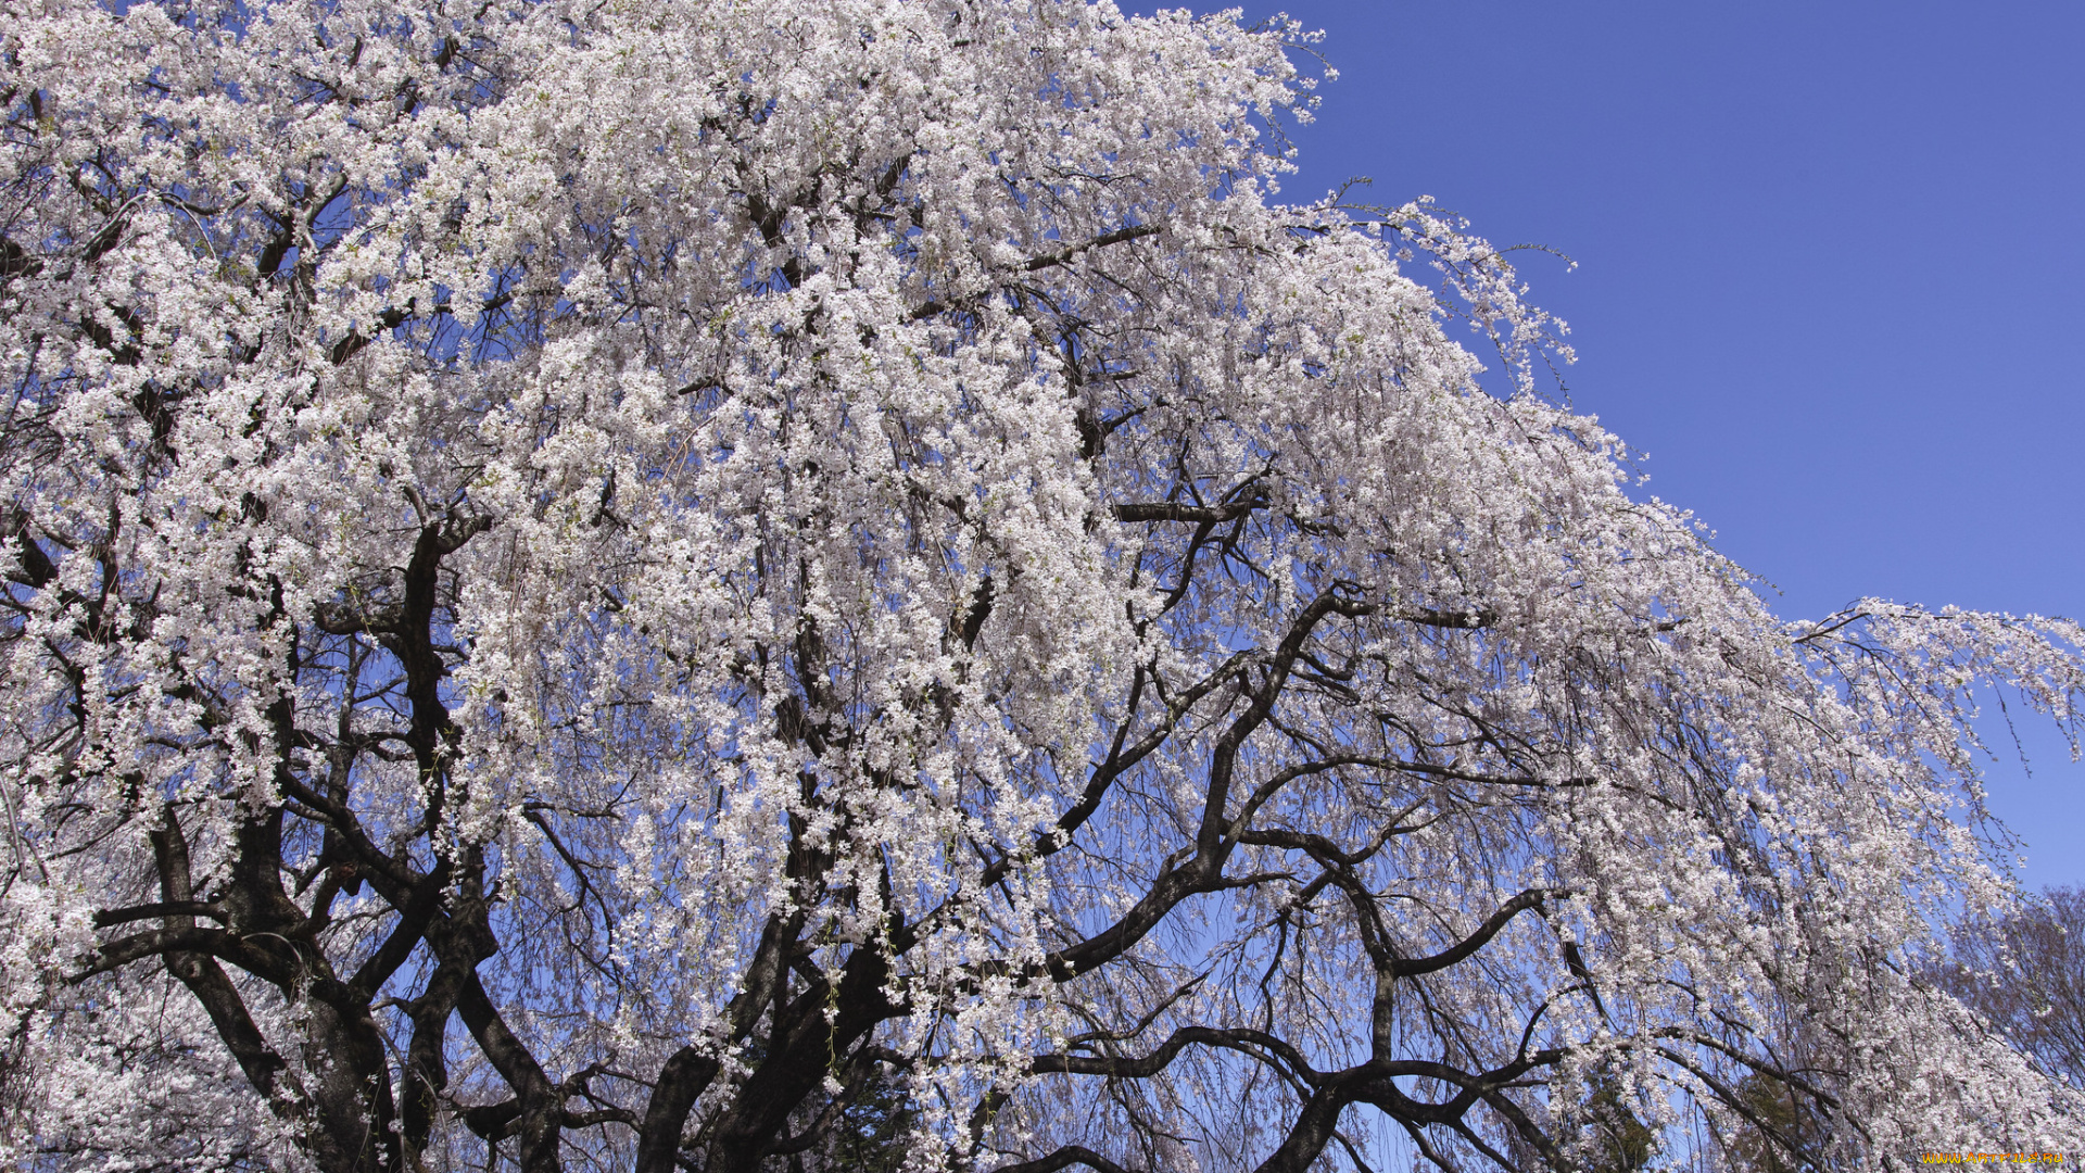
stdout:
MULTIPOLYGON (((1341 71, 1284 194, 1368 175, 1578 261, 1522 255, 1572 405, 1781 614, 2085 614, 2085 6, 1274 10, 1341 71)), ((2022 875, 2085 883, 2085 768, 2027 747, 1993 768, 2022 875)))

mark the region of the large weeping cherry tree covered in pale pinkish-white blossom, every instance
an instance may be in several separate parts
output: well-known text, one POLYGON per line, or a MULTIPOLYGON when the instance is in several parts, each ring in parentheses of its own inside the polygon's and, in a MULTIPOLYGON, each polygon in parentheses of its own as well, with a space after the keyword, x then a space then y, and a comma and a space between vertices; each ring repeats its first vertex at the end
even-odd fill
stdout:
POLYGON ((1293 29, 0 21, 10 1160, 2085 1138, 1918 977, 2079 626, 1772 618, 1491 248, 1272 200, 1293 29))

